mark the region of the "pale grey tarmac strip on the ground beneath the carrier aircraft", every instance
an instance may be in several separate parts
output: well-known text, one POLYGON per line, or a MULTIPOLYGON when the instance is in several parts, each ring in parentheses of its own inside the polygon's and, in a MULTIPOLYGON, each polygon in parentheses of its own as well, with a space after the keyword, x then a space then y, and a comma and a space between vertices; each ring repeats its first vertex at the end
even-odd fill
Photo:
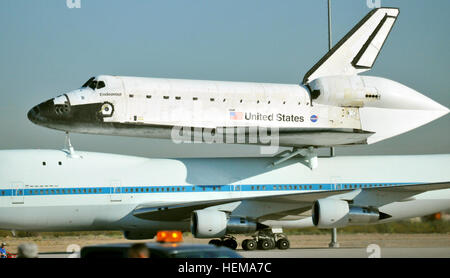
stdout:
MULTIPOLYGON (((450 258, 450 248, 292 248, 289 250, 238 251, 245 258, 450 258)), ((67 253, 45 253, 39 258, 68 258, 67 253)))

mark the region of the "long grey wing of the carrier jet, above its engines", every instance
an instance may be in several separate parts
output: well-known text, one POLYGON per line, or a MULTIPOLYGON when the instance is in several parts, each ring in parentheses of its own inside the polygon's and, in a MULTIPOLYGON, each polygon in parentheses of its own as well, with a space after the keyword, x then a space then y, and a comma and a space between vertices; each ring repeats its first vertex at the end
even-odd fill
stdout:
MULTIPOLYGON (((401 201, 416 194, 438 189, 450 188, 449 182, 442 183, 420 183, 420 184, 402 184, 389 187, 374 187, 356 189, 360 190, 356 196, 362 195, 363 200, 380 199, 377 203, 368 203, 367 206, 381 206, 385 203, 401 201)), ((345 193, 356 191, 355 189, 347 190, 333 190, 333 191, 316 191, 308 193, 291 193, 276 196, 265 197, 252 197, 252 198, 235 198, 235 199, 220 199, 203 202, 191 202, 183 204, 168 204, 160 206, 148 206, 140 205, 134 211, 133 215, 146 219, 156 221, 183 221, 188 220, 191 217, 191 213, 195 210, 204 209, 207 207, 218 206, 228 203, 234 203, 239 201, 252 201, 252 202, 271 202, 286 204, 286 210, 284 212, 276 212, 277 218, 283 215, 292 215, 295 213, 301 213, 311 208, 313 202, 317 199, 327 198, 335 195, 343 195, 343 199, 348 200, 345 197, 345 193)), ((355 197, 353 197, 355 198, 355 197)), ((264 215, 261 215, 263 217, 264 215)), ((266 217, 264 217, 266 218, 266 217)))

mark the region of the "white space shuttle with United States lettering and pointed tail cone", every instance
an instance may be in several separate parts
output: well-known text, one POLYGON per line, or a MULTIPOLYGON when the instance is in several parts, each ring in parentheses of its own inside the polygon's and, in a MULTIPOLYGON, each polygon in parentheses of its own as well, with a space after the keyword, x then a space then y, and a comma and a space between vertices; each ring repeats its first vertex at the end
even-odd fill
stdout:
POLYGON ((231 129, 244 136, 237 143, 264 144, 249 139, 256 128, 276 130, 285 147, 373 144, 449 112, 403 84, 361 75, 374 66, 398 16, 396 8, 372 10, 300 84, 99 75, 33 107, 28 118, 85 134, 173 139, 175 127, 193 134, 231 129))

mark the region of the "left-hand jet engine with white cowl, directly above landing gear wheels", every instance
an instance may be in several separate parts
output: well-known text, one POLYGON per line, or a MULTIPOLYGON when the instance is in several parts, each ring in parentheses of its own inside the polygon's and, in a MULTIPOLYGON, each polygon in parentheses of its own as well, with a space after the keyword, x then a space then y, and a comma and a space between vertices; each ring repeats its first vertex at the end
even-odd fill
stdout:
POLYGON ((196 238, 223 237, 256 231, 258 224, 247 218, 228 216, 223 211, 197 210, 192 213, 191 232, 196 238))

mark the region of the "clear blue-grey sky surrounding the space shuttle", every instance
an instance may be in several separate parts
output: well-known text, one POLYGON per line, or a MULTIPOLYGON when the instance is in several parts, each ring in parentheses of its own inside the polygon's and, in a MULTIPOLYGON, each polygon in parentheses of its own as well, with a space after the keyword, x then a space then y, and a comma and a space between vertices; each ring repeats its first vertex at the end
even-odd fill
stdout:
MULTIPOLYGON (((450 107, 450 1, 382 0, 399 20, 375 68, 450 107)), ((327 51, 326 0, 0 1, 0 149, 60 149, 64 134, 33 125, 35 104, 114 74, 298 84, 327 51)), ((333 0, 333 41, 370 9, 333 0)), ((393 119, 395 120, 395 119, 393 119)), ((450 153, 450 117, 338 154, 450 153)), ((254 155, 248 146, 72 135, 77 149, 162 156, 254 155)))

